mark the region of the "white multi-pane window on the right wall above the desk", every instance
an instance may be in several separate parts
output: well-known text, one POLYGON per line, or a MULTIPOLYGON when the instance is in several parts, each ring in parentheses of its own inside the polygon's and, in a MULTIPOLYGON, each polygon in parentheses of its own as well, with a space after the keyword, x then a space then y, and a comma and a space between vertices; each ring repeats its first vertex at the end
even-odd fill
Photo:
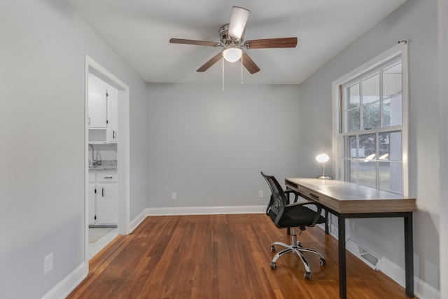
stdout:
POLYGON ((333 83, 337 179, 406 195, 406 61, 400 43, 333 83))

